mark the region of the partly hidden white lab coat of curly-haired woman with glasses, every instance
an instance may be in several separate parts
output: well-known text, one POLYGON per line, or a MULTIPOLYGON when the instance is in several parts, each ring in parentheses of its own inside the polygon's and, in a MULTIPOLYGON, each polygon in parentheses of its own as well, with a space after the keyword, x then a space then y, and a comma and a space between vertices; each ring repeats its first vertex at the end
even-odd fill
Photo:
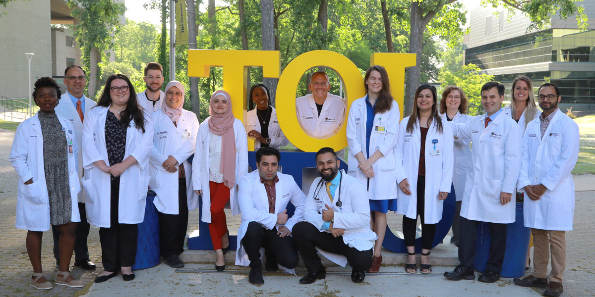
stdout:
MULTIPOLYGON (((446 119, 446 113, 440 113, 443 125, 449 125, 446 119)), ((472 116, 465 113, 456 112, 455 118, 452 119, 453 123, 465 123, 468 122, 472 116)), ((467 177, 467 170, 469 170, 469 162, 471 162, 471 143, 470 139, 457 138, 453 143, 453 154, 455 156, 455 163, 453 165, 452 172, 452 184, 455 187, 456 201, 463 200, 463 194, 465 192, 465 179, 467 177)))

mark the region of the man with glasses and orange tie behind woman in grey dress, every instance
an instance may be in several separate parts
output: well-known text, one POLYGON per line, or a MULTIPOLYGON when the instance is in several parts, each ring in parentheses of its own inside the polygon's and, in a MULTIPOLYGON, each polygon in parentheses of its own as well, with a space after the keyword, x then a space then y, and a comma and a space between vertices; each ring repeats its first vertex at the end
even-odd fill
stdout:
MULTIPOLYGON (((70 65, 64 70, 64 84, 67 87, 66 93, 62 94, 62 104, 56 106, 56 113, 64 116, 73 124, 74 137, 76 137, 79 146, 82 146, 83 140, 83 119, 89 113, 89 110, 94 108, 97 104, 95 101, 84 96, 84 85, 87 82, 83 68, 79 65, 70 65)), ((77 158, 79 160, 79 181, 83 178, 83 156, 82 151, 79 150, 77 158)), ((82 188, 82 186, 81 186, 82 188)), ((90 225, 87 222, 87 214, 84 207, 84 193, 79 192, 79 213, 80 222, 76 227, 76 239, 74 241, 74 266, 80 266, 83 269, 95 269, 95 264, 89 260, 89 247, 87 247, 87 237, 89 236, 90 225)), ((54 228, 52 225, 52 235, 54 235, 54 257, 56 263, 60 262, 60 249, 58 248, 58 238, 60 238, 60 230, 54 228)), ((58 267, 58 265, 56 266, 58 267)))

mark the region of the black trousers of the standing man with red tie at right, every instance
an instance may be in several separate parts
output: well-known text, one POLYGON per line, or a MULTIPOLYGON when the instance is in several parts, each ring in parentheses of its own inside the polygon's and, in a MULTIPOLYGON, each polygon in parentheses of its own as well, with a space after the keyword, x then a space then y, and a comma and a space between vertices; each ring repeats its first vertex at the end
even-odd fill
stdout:
MULTIPOLYGON (((478 221, 468 220, 461 217, 459 238, 459 261, 461 266, 474 269, 475 245, 477 243, 478 221)), ((487 260, 486 269, 496 273, 502 271, 502 262, 506 251, 506 225, 499 223, 486 223, 490 229, 490 255, 487 260)))

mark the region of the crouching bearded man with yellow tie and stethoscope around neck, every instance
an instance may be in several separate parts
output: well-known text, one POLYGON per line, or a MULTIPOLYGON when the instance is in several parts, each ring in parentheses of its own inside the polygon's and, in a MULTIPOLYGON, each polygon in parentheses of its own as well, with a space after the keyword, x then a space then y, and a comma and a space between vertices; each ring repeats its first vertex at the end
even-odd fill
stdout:
POLYGON ((354 283, 363 282, 364 271, 372 266, 377 236, 370 229, 368 191, 359 179, 339 171, 339 162, 330 147, 316 153, 320 178, 314 179, 306 198, 305 222, 293 226, 294 242, 308 269, 299 281, 303 284, 326 276, 317 249, 340 266, 349 262, 354 283))

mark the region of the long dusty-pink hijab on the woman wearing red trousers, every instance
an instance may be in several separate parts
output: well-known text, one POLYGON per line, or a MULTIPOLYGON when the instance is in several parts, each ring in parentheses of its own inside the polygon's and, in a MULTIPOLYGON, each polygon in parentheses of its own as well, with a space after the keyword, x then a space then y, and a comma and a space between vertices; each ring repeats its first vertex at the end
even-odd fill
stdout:
POLYGON ((229 93, 224 90, 215 91, 211 95, 211 104, 209 105, 209 129, 215 135, 221 135, 221 168, 220 172, 223 174, 223 184, 228 188, 233 188, 236 185, 236 135, 233 132, 233 123, 236 118, 231 112, 231 97, 229 93), (213 111, 213 101, 215 97, 223 96, 227 99, 229 107, 222 115, 218 115, 213 111))

